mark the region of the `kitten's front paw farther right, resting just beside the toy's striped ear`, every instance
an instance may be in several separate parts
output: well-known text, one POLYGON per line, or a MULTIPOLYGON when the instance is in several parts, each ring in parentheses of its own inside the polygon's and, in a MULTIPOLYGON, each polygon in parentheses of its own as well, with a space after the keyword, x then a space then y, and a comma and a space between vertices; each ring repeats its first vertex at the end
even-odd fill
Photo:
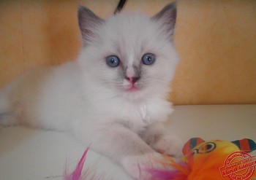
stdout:
POLYGON ((152 148, 162 154, 167 154, 173 157, 181 157, 182 146, 182 141, 179 138, 164 135, 152 145, 152 148))

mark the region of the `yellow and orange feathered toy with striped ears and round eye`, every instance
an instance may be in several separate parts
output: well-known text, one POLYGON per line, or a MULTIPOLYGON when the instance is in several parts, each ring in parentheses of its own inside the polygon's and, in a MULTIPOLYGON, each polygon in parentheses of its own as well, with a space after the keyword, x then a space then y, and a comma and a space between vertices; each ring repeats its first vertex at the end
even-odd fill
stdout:
POLYGON ((248 154, 255 149, 255 141, 247 138, 232 142, 191 138, 180 161, 166 156, 159 162, 172 170, 149 170, 151 180, 256 179, 256 156, 248 154))

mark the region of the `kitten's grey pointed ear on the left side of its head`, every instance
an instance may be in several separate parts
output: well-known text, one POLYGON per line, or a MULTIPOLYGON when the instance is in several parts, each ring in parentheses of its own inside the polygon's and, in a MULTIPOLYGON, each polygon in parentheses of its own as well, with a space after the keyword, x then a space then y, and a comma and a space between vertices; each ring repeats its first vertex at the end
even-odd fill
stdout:
POLYGON ((83 46, 93 41, 97 36, 97 28, 105 23, 105 20, 91 12, 87 7, 78 6, 78 23, 83 38, 83 46))

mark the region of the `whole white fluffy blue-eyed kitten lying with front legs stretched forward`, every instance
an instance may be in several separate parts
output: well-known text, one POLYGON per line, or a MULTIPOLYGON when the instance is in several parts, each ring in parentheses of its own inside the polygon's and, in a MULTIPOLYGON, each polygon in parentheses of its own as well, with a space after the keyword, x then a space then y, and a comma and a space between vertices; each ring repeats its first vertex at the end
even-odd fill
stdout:
POLYGON ((103 20, 78 8, 83 47, 78 59, 23 74, 0 91, 0 124, 67 131, 135 179, 157 165, 158 152, 179 154, 162 122, 178 57, 176 6, 154 17, 118 13, 103 20))

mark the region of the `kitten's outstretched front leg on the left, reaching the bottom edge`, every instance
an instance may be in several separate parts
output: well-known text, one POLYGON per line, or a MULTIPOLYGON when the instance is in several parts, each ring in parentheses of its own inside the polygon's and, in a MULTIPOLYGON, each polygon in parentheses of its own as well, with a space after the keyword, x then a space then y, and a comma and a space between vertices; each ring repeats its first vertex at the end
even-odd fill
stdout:
POLYGON ((86 143, 91 142, 92 149, 123 165, 135 179, 148 178, 147 168, 164 168, 155 160, 162 158, 162 155, 151 149, 132 130, 117 123, 104 126, 86 124, 86 128, 75 130, 76 136, 86 143))

